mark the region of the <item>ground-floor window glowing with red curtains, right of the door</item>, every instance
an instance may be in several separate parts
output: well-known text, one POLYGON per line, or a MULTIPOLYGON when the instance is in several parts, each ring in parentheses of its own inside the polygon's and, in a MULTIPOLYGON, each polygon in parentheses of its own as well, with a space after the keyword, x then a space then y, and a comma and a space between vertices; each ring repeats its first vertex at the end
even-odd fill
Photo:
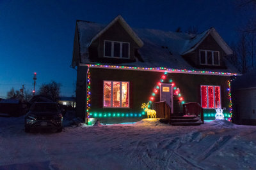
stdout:
POLYGON ((201 85, 201 105, 204 109, 221 108, 220 86, 201 85))

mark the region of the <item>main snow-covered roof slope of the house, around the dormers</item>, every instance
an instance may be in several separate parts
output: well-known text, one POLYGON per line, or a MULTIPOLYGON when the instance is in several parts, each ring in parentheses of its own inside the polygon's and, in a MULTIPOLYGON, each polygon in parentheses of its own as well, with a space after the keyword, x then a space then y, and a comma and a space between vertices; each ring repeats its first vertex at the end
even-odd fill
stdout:
MULTIPOLYGON (((90 60, 88 46, 90 46, 93 39, 95 39, 100 32, 106 29, 108 25, 77 20, 81 64, 95 64, 95 62, 90 60)), ((143 41, 143 46, 138 50, 142 60, 136 58, 136 61, 134 62, 122 63, 118 64, 118 66, 168 67, 172 69, 188 69, 198 71, 212 70, 197 69, 184 60, 182 55, 200 43, 202 39, 205 38, 206 34, 210 34, 211 32, 216 34, 215 29, 209 29, 201 34, 198 34, 197 36, 183 32, 161 31, 157 29, 132 28, 132 30, 136 35, 138 35, 141 41, 143 41)), ((214 71, 237 73, 237 69, 233 67, 227 59, 224 59, 224 62, 227 69, 214 69, 214 71)), ((111 63, 104 64, 113 65, 111 63)))

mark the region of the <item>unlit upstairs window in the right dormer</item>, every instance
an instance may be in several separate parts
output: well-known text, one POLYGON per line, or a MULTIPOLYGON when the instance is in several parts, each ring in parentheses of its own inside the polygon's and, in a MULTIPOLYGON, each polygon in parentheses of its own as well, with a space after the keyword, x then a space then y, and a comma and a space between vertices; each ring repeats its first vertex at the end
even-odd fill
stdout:
POLYGON ((200 50, 200 64, 220 66, 220 52, 211 50, 200 50))

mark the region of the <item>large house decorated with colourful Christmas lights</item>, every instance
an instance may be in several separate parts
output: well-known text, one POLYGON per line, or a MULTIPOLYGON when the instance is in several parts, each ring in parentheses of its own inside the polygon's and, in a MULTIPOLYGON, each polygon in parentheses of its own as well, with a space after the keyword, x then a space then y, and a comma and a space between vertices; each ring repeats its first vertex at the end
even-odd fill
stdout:
POLYGON ((218 106, 227 108, 230 119, 227 89, 237 75, 226 59, 231 54, 214 28, 194 35, 134 29, 120 15, 109 24, 77 20, 72 57, 77 117, 136 122, 147 117, 142 103, 154 106, 157 117, 161 110, 166 114, 163 106, 176 114, 192 103, 202 106, 205 119, 214 119, 218 106))

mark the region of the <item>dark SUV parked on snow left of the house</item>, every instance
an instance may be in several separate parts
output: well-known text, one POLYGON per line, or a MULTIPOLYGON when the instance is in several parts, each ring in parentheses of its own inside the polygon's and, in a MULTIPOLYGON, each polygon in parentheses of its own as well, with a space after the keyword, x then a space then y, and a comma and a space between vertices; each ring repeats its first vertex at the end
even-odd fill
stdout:
POLYGON ((63 116, 57 103, 33 103, 25 117, 25 132, 32 128, 55 128, 62 131, 63 116))

